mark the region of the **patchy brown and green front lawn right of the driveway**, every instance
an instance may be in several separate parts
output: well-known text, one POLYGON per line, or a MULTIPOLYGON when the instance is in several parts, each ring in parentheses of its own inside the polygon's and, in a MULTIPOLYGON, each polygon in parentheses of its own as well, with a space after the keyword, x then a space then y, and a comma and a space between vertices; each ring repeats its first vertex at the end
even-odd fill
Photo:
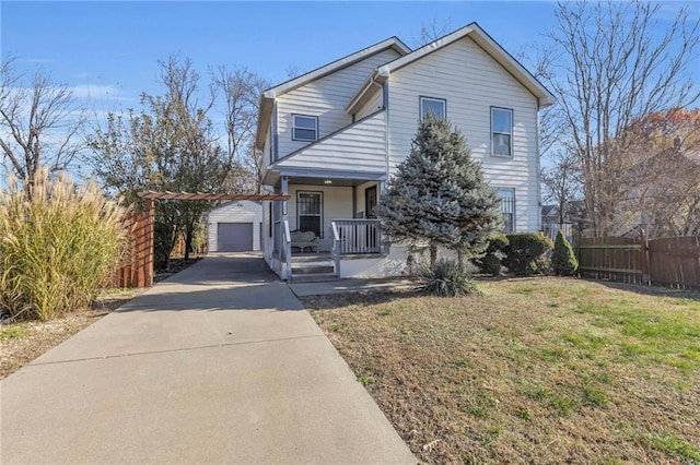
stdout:
POLYGON ((700 463, 699 295, 576 279, 304 299, 429 463, 700 463))

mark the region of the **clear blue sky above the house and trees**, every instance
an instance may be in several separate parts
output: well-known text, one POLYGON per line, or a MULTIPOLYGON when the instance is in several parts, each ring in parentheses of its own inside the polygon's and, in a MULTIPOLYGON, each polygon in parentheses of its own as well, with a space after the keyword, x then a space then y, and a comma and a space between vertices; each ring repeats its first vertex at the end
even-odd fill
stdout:
MULTIPOLYGON (((666 2, 672 16, 686 2, 666 2)), ((100 109, 158 93, 158 60, 179 52, 207 67, 247 67, 272 83, 386 37, 415 45, 422 24, 478 22, 516 55, 553 25, 553 2, 0 1, 0 49, 90 95, 100 109)), ((700 14, 700 7, 693 7, 700 14)), ((663 24, 662 24, 663 26, 663 24)))

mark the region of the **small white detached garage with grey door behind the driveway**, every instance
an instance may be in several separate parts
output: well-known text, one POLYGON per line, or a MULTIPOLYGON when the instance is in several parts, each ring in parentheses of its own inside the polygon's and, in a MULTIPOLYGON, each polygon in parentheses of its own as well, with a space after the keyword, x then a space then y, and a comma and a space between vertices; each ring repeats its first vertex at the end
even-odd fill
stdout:
POLYGON ((208 215, 210 252, 260 250, 262 205, 250 200, 226 202, 208 215))

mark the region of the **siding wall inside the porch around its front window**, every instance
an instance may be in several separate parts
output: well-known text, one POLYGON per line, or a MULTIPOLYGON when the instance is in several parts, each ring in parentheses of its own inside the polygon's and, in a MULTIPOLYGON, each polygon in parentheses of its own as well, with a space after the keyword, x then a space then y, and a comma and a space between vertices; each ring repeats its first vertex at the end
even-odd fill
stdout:
POLYGON ((332 219, 352 218, 352 188, 290 184, 289 193, 289 229, 296 229, 296 192, 323 192, 323 233, 319 250, 329 251, 332 247, 330 240, 330 222, 332 219))

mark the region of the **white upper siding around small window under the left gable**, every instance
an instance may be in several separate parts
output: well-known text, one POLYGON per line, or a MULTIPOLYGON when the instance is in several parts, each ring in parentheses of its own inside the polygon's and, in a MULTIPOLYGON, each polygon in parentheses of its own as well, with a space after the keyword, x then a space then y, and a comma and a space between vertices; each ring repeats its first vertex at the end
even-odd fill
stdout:
POLYGON ((332 74, 320 78, 277 98, 279 157, 298 151, 308 142, 292 141, 292 114, 318 117, 318 136, 328 135, 352 122, 345 107, 370 72, 396 58, 386 49, 332 74))

